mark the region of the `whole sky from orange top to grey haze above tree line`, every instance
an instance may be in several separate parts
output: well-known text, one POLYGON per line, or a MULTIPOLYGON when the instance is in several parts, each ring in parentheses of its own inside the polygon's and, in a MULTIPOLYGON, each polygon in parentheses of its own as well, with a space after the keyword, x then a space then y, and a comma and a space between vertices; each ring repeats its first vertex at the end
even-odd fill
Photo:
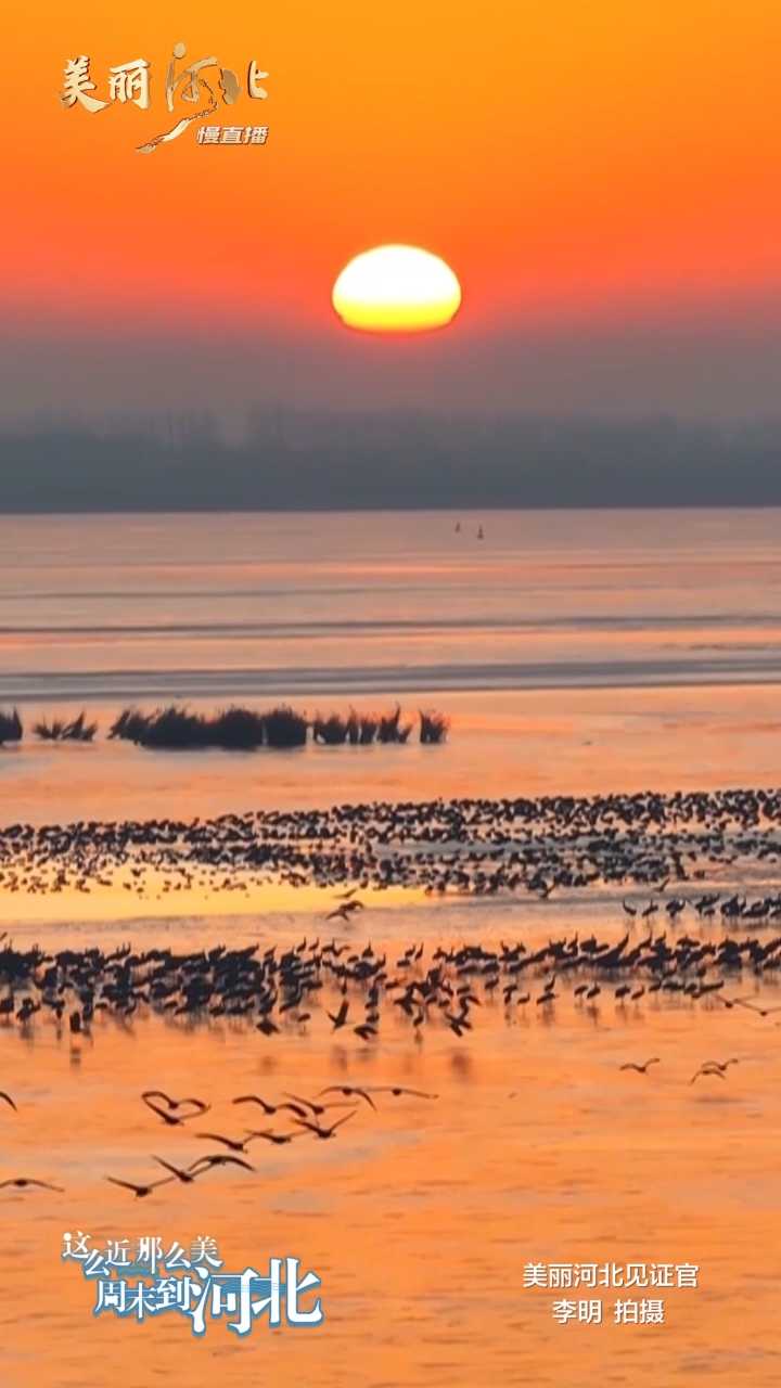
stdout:
POLYGON ((117 8, 42 3, 6 40, 4 418, 204 391, 228 412, 774 409, 775 0, 117 8), (189 60, 270 71, 268 101, 211 118, 268 124, 265 149, 203 149, 190 128, 135 151, 171 124, 179 39, 189 60), (146 57, 150 110, 64 110, 81 53, 96 96, 111 64, 146 57), (382 242, 456 269, 464 304, 439 339, 334 318, 336 273, 382 242))

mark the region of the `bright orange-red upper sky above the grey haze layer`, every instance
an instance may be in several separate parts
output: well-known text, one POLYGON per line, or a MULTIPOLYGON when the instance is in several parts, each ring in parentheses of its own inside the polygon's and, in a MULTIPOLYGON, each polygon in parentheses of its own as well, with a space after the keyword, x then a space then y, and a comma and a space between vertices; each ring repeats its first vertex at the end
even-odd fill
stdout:
POLYGON ((329 329, 340 266, 390 240, 454 266, 460 332, 781 283, 775 0, 163 8, 42 3, 7 39, 13 319, 329 329), (170 124, 178 39, 270 69, 268 101, 213 118, 267 122, 265 149, 203 149, 190 128, 135 153, 170 124), (108 65, 146 57, 150 110, 61 108, 81 53, 96 96, 108 65))

